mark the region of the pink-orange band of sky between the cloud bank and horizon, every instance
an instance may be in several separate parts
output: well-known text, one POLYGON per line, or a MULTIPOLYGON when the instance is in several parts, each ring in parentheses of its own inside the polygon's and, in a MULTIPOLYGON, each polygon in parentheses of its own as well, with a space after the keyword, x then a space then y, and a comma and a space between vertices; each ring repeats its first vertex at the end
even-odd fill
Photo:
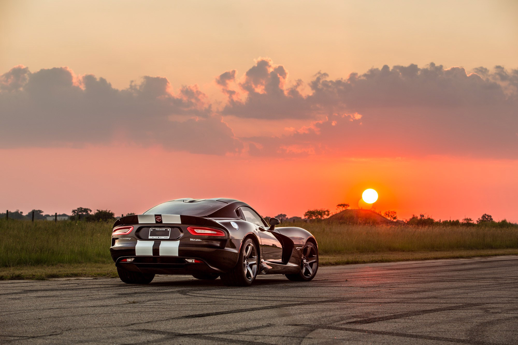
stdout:
POLYGON ((9 209, 69 213, 81 206, 141 213, 171 198, 222 196, 246 200, 263 215, 291 217, 309 208, 334 211, 339 203, 357 203, 363 190, 374 188, 377 209, 395 209, 400 219, 421 212, 436 219, 490 213, 518 221, 516 160, 247 160, 136 147, 0 155, 7 162, 0 174, 9 181, 0 207, 9 209))

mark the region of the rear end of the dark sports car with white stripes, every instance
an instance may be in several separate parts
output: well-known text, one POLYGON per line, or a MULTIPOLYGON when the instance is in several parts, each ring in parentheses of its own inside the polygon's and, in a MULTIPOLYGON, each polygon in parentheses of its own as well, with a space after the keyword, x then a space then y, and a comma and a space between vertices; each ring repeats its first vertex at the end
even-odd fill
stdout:
POLYGON ((191 215, 141 214, 114 224, 110 253, 118 268, 143 274, 220 274, 238 260, 241 240, 220 223, 191 215))

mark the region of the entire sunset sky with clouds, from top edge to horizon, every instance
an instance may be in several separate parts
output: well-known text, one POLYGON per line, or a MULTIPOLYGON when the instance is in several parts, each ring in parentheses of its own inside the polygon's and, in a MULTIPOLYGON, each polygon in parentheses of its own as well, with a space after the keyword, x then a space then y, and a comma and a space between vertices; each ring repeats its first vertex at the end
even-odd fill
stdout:
POLYGON ((0 30, 0 209, 373 188, 518 222, 516 1, 0 0, 0 30))

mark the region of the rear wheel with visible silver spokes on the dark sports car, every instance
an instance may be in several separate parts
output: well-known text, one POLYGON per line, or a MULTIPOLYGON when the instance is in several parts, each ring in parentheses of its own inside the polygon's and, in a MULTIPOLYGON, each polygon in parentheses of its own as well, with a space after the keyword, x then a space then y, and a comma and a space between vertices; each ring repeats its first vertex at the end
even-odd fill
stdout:
POLYGON ((228 286, 249 286, 257 277, 259 267, 259 251, 251 238, 243 241, 236 267, 222 274, 223 284, 228 286))

